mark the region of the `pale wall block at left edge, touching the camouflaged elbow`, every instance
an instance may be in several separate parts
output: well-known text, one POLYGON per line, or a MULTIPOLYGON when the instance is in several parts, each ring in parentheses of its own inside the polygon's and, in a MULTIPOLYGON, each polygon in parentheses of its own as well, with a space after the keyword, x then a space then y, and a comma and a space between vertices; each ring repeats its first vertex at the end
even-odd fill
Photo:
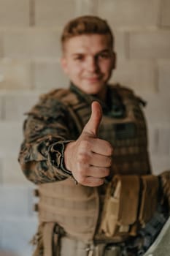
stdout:
POLYGON ((26 179, 26 176, 24 176, 18 163, 18 159, 14 157, 4 158, 2 181, 4 186, 24 185, 32 187, 31 182, 26 179))

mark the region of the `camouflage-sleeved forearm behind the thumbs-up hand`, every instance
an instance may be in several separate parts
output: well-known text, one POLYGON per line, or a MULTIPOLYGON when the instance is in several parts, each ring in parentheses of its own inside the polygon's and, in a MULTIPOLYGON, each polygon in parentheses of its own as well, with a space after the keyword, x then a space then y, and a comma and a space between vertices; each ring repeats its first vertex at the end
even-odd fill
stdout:
POLYGON ((64 143, 54 140, 42 140, 40 143, 24 142, 18 161, 26 178, 34 184, 68 178, 70 173, 67 173, 63 166, 64 143))

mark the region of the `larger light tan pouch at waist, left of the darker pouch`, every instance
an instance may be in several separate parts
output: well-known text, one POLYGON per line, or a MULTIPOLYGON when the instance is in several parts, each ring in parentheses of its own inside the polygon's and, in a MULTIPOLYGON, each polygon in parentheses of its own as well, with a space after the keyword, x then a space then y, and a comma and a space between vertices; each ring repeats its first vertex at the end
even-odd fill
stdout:
POLYGON ((136 222, 139 206, 139 176, 114 176, 107 190, 99 232, 125 236, 136 222))

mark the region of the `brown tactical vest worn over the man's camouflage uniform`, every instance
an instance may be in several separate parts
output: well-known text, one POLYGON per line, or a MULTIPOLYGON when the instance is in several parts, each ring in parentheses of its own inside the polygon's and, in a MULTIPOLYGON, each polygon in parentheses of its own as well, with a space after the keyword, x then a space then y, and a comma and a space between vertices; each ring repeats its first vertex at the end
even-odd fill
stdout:
MULTIPOLYGON (((112 173, 146 175, 150 173, 147 153, 147 129, 139 99, 133 92, 114 86, 125 105, 125 117, 103 116, 98 138, 108 140, 114 148, 112 173)), ((51 97, 61 100, 82 128, 90 117, 89 102, 81 102, 69 90, 54 91, 51 97)), ((75 184, 72 178, 39 185, 39 220, 57 222, 69 236, 93 241, 98 233, 107 185, 98 188, 75 184)))

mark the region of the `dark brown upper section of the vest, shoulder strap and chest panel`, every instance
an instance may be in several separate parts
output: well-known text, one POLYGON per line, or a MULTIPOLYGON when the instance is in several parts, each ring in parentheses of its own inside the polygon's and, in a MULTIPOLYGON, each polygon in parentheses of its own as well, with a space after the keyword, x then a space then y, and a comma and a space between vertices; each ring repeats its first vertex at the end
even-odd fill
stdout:
MULTIPOLYGON (((149 174, 147 127, 139 99, 134 96, 131 90, 121 86, 110 86, 110 89, 113 93, 116 91, 125 105, 125 117, 114 118, 103 115, 98 132, 98 137, 108 140, 114 148, 113 173, 149 174)), ((81 133, 90 118, 89 102, 80 102, 80 99, 72 92, 63 94, 61 102, 66 104, 69 110, 72 110, 70 114, 81 133)))

